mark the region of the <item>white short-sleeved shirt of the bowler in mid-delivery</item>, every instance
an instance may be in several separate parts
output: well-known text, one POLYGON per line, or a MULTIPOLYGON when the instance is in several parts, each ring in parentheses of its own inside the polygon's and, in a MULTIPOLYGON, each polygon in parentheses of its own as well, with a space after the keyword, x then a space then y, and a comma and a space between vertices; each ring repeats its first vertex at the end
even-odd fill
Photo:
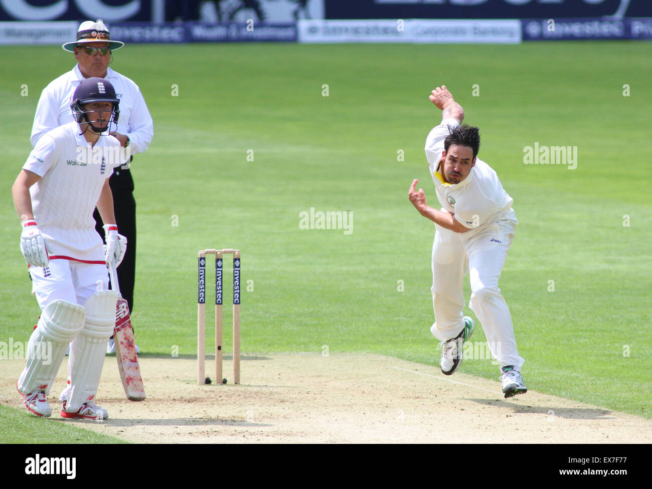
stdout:
POLYGON ((439 163, 444 139, 449 135, 448 126, 458 125, 459 122, 455 119, 443 120, 426 138, 426 158, 430 175, 435 182, 439 204, 443 210, 454 214, 460 224, 471 230, 479 231, 495 221, 509 220, 516 223, 512 210, 514 200, 503 189, 496 172, 484 161, 476 158, 475 166, 471 168, 469 175, 458 184, 447 184, 443 181, 439 163))

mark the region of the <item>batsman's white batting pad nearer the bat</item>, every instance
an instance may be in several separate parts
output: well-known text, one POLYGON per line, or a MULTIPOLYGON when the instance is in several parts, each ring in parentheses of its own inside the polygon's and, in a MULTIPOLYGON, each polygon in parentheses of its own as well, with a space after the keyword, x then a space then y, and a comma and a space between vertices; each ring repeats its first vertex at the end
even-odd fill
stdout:
POLYGON ((95 398, 104 367, 106 342, 115 327, 115 304, 118 294, 113 290, 95 292, 85 301, 86 320, 80 334, 70 344, 70 395, 67 411, 78 410, 84 402, 95 398))

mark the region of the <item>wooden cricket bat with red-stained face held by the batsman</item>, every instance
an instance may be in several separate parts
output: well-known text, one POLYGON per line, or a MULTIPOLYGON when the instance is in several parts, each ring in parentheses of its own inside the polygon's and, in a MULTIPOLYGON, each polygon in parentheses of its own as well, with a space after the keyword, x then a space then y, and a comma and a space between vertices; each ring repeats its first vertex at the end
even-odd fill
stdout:
POLYGON ((118 294, 115 307, 113 341, 115 342, 115 358, 118 361, 120 379, 128 400, 143 400, 145 398, 145 389, 143 387, 143 378, 140 375, 140 365, 138 365, 134 329, 131 327, 131 318, 129 317, 129 305, 120 293, 115 267, 111 264, 108 268, 111 277, 111 288, 118 294))

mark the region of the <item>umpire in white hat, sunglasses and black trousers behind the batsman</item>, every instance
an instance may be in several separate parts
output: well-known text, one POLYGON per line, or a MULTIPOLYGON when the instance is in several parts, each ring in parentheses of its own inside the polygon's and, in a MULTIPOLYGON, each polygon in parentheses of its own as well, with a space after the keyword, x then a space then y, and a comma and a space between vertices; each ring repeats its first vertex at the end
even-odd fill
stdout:
MULTIPOLYGON (((141 153, 149 147, 154 135, 152 117, 138 85, 132 80, 111 70, 113 51, 122 48, 124 42, 111 40, 108 28, 98 19, 96 22, 82 22, 77 31, 77 40, 63 44, 63 49, 75 55, 77 64, 72 70, 61 75, 45 87, 38 99, 37 113, 34 117, 30 141, 36 145, 44 133, 74 120, 70 111, 72 94, 83 79, 92 76, 108 79, 120 100, 120 116, 111 134, 128 147, 126 154, 141 153)), ((136 270, 136 201, 134 200, 134 180, 129 169, 130 160, 113 172, 109 180, 115 207, 118 229, 127 238, 125 259, 117 269, 120 290, 134 310, 134 272, 136 270)), ((102 219, 95 210, 96 229, 100 236, 102 219)), ((110 341, 112 346, 112 341, 110 341)), ((110 351, 110 350, 108 350, 110 351)))

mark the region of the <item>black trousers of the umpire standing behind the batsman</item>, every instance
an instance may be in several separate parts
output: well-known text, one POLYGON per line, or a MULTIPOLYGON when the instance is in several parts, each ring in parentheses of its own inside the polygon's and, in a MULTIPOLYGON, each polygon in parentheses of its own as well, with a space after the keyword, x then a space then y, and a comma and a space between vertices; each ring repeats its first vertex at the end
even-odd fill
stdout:
MULTIPOLYGON (((134 311, 134 281, 136 278, 136 199, 134 199, 134 180, 129 170, 118 169, 109 179, 113 193, 113 212, 118 232, 126 236, 125 258, 118 266, 117 274, 120 292, 129 304, 129 311, 134 311)), ((95 209, 95 229, 104 239, 102 218, 95 209)))

